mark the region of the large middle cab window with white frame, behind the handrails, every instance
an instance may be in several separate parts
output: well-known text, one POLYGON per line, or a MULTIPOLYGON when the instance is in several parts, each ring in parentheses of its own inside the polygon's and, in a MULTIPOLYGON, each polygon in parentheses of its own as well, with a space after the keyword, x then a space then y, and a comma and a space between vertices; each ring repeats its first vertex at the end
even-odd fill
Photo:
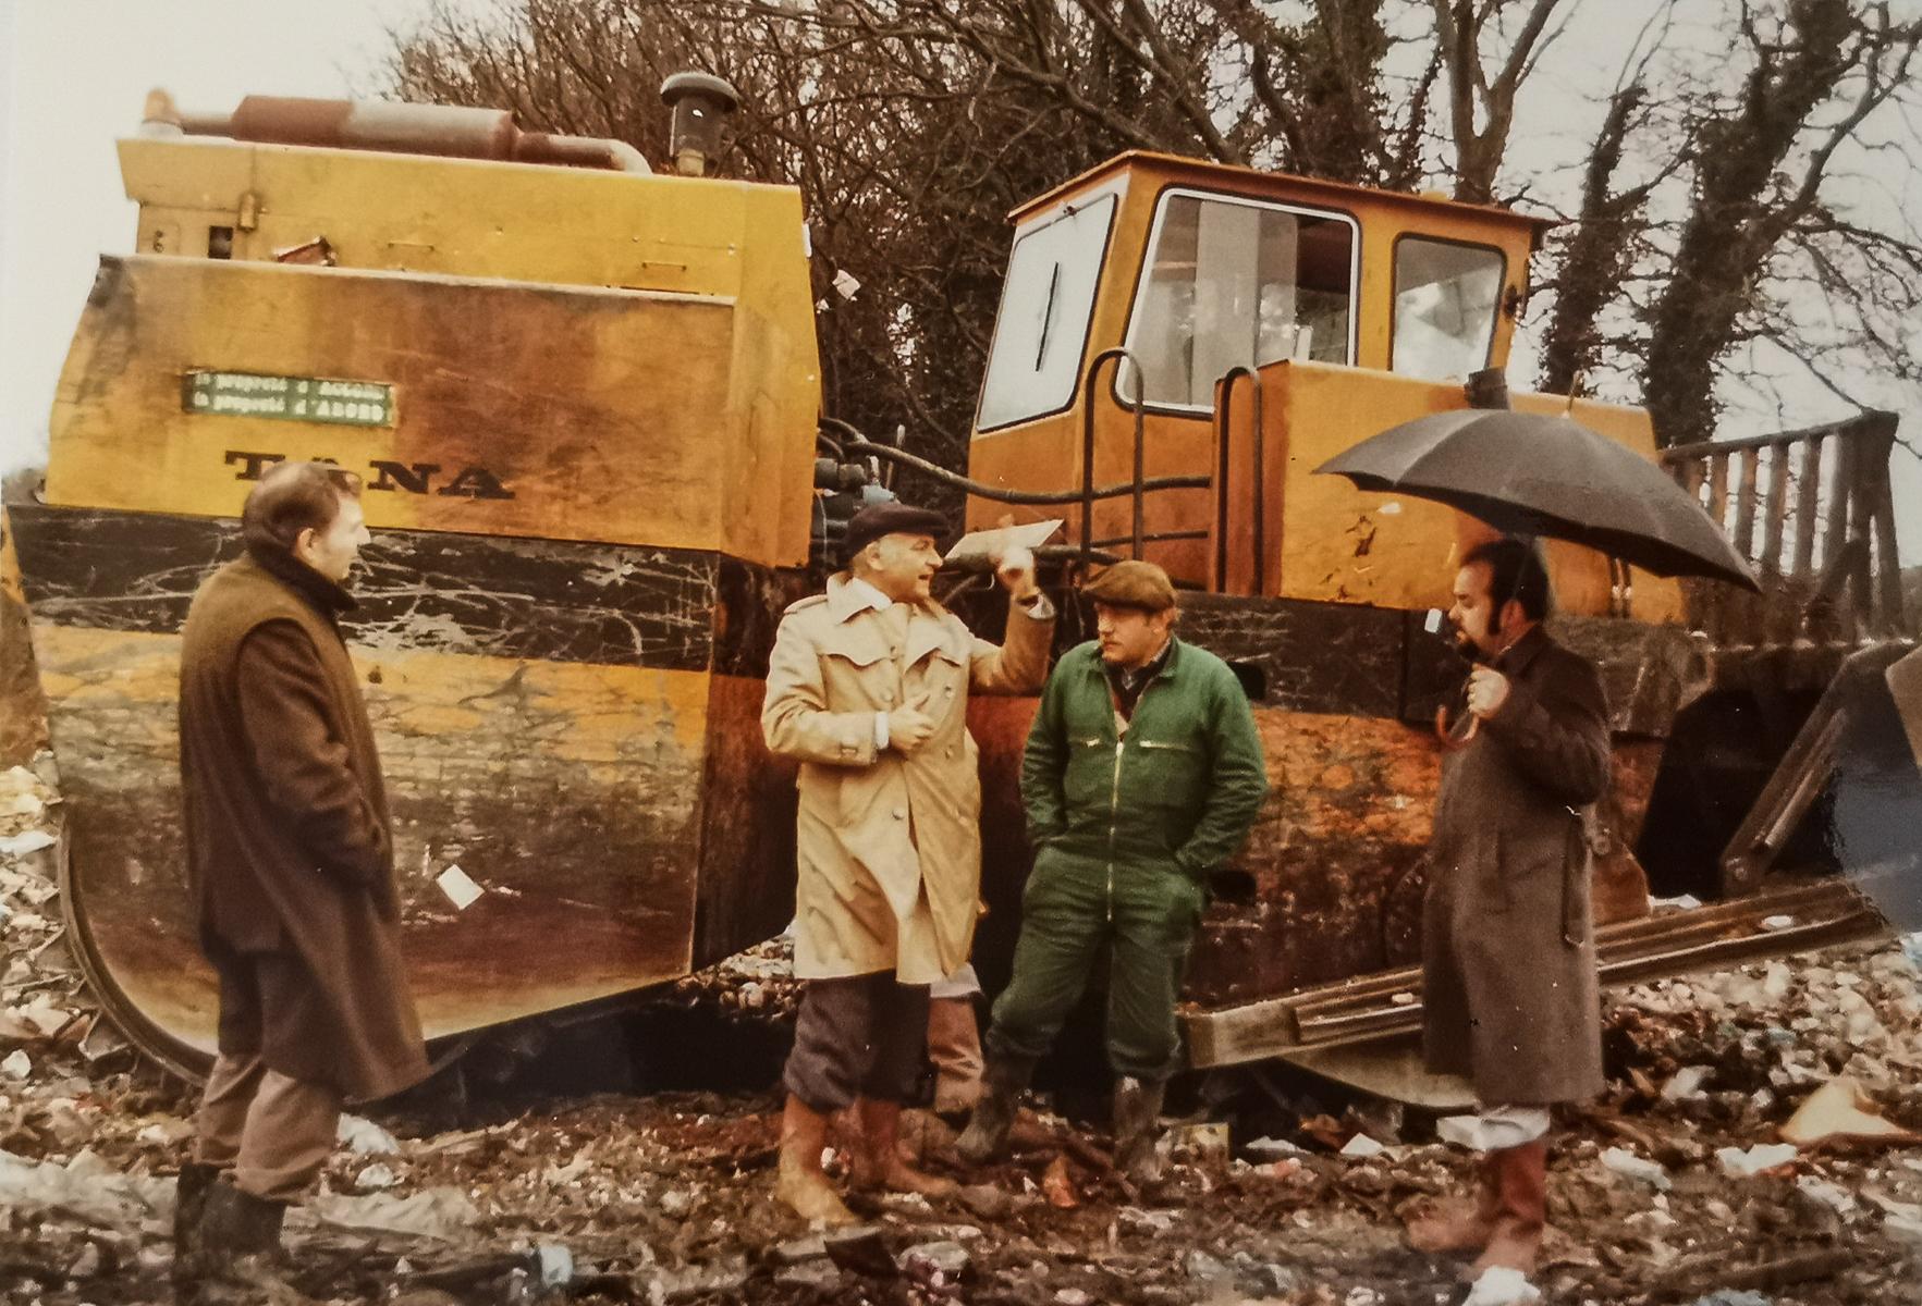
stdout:
MULTIPOLYGON (((1342 213, 1170 190, 1128 317, 1153 407, 1207 411, 1234 367, 1353 363, 1355 221, 1342 213)), ((1134 369, 1115 392, 1134 398, 1134 369)))

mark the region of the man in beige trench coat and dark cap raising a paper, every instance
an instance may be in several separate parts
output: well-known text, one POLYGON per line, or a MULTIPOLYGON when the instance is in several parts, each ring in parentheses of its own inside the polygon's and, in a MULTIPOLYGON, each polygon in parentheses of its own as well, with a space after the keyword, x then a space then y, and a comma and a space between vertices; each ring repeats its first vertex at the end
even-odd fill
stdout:
POLYGON ((998 561, 1007 643, 969 634, 928 593, 938 513, 884 503, 848 522, 848 570, 780 620, 761 734, 800 761, 794 974, 805 981, 776 1195, 851 1223, 821 1173, 826 1122, 855 1104, 853 1185, 948 1185, 896 1152, 926 1047, 928 985, 969 958, 980 899, 980 774, 967 695, 1024 693, 1047 674, 1053 609, 1034 555, 998 561))

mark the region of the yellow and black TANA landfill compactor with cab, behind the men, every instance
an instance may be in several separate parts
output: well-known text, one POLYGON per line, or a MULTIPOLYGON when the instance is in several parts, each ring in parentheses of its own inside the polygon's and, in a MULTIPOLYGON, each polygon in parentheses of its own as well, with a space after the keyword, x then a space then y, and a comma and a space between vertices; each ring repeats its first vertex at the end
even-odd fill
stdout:
MULTIPOLYGON (((684 104, 727 108, 725 85, 694 81, 684 104)), ((876 492, 884 459, 915 463, 832 421, 817 444, 801 196, 709 175, 698 140, 655 175, 617 142, 432 106, 252 98, 190 117, 156 96, 119 150, 136 252, 104 259, 88 296, 44 494, 8 505, 67 797, 65 910, 113 1018, 177 1068, 206 1064, 213 987, 177 810, 179 628, 238 551, 248 486, 283 457, 367 480, 375 540, 348 636, 431 1035, 653 985, 775 933, 792 907, 794 791, 757 728, 773 630, 819 586, 811 542, 876 492), (440 887, 454 868, 484 889, 465 908, 440 887)), ((1190 1056, 1282 1054, 1418 1095, 1347 1051, 1405 1035, 1418 1012, 1397 966, 1415 955, 1434 709, 1463 674, 1426 617, 1488 530, 1311 472, 1470 403, 1470 375, 1474 401, 1501 401, 1490 375, 1543 225, 1151 154, 1013 217, 969 474, 946 476, 971 526, 1067 519, 1046 559, 1057 584, 1113 557, 1165 563, 1184 634, 1236 666, 1269 755, 1269 809, 1217 876, 1194 956, 1190 1056)), ((1513 405, 1657 457, 1639 409, 1513 405)), ((1884 436, 1668 455, 1751 557, 1780 555, 1766 638, 1726 634, 1743 613, 1718 586, 1549 547, 1561 634, 1603 663, 1613 695, 1616 791, 1593 835, 1611 978, 1882 928, 1839 876, 1778 874, 1834 749, 1797 753, 1818 780, 1776 778, 1774 824, 1749 832, 1739 874, 1713 862, 1882 593, 1884 436), (1820 513, 1797 513, 1784 496, 1811 446, 1816 471, 1839 457, 1824 447, 1849 449, 1847 476, 1832 472, 1843 488, 1820 513), (1832 501, 1857 494, 1832 530, 1832 501), (1784 534, 1776 517, 1801 526, 1784 534), (1816 601, 1820 630, 1805 620, 1816 601), (1734 762, 1699 747, 1764 701, 1772 736, 1743 739, 1734 762), (1636 851, 1661 889, 1680 874, 1661 859, 1676 832, 1705 830, 1716 843, 1691 887, 1724 901, 1651 916, 1636 851), (1762 937, 1757 922, 1780 910, 1795 924, 1762 937)), ((1086 613, 1057 595, 1067 647, 1086 613)), ((992 983, 1028 868, 1015 774, 1034 699, 971 713, 992 983)))

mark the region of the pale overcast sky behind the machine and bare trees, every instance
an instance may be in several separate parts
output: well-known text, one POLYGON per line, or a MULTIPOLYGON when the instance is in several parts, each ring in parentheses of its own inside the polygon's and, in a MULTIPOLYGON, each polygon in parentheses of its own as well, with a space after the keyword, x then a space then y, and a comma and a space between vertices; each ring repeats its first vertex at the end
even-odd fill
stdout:
MULTIPOLYGON (((1905 0, 1912 4, 1918 0, 1905 0)), ((492 10, 496 0, 461 0, 492 10)), ((1586 0, 1543 77, 1524 88, 1511 157, 1528 169, 1580 157, 1641 17, 1655 0, 1586 0)), ((0 0, 0 472, 46 457, 54 380, 102 252, 127 252, 135 207, 113 154, 154 86, 186 108, 231 108, 250 92, 342 96, 365 85, 427 0, 0 0), (244 15, 244 21, 236 21, 244 15)), ((1701 10, 1686 10, 1703 13, 1701 10)), ((1684 35, 1678 33, 1678 38, 1684 35)), ((1887 207, 1918 211, 1914 177, 1874 179, 1887 207)), ((1878 200, 1880 202, 1880 200, 1878 200)), ((1511 369, 1534 375, 1524 342, 1511 369)), ((1922 398, 1868 384, 1922 444, 1922 398)), ((1724 434, 1759 434, 1847 415, 1820 386, 1789 378, 1787 407, 1759 396, 1724 434)), ((1897 451, 1907 561, 1922 561, 1922 461, 1897 451)))

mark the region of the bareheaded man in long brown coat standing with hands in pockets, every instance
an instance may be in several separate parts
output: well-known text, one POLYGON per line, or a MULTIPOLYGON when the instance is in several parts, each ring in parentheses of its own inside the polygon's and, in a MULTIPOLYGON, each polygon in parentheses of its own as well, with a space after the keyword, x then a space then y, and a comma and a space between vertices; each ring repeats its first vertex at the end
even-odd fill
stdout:
POLYGON ((367 542, 359 478, 275 467, 181 645, 186 880, 219 976, 219 1060, 181 1166, 175 1271, 258 1271, 342 1100, 427 1076, 400 958, 381 759, 336 620, 367 542))

